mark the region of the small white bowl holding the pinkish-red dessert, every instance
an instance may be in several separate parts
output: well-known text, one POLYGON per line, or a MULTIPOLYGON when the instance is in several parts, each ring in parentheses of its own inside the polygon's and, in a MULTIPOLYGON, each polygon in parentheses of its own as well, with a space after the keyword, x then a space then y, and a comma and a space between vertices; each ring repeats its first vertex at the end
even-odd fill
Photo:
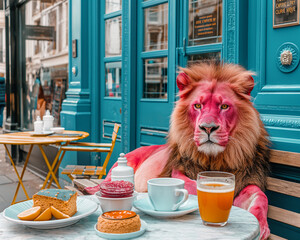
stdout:
POLYGON ((128 210, 130 211, 137 193, 134 192, 131 197, 125 198, 106 198, 101 197, 100 192, 95 193, 100 202, 102 212, 115 211, 115 210, 128 210))

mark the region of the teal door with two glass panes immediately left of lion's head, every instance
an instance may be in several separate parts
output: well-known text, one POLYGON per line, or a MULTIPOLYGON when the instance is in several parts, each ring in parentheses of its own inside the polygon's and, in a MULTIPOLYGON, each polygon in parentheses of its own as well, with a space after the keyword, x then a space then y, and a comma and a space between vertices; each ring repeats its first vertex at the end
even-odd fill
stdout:
POLYGON ((175 99, 175 6, 138 1, 136 147, 164 144, 167 136, 175 99))

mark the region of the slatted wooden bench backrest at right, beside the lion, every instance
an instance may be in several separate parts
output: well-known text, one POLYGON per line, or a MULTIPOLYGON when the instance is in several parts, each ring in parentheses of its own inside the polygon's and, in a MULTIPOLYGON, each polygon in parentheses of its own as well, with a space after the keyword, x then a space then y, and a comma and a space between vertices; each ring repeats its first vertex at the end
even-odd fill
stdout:
POLYGON ((272 150, 272 177, 268 178, 270 239, 300 236, 300 153, 272 150), (296 177, 295 177, 296 176, 296 177), (298 182, 297 182, 298 181, 298 182))

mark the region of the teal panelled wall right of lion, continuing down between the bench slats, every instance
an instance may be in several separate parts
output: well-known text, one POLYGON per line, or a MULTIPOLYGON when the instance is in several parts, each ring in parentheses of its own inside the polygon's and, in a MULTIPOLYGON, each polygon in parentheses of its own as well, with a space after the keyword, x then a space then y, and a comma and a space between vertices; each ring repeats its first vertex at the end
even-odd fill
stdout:
MULTIPOLYGON (((299 1, 257 0, 249 1, 248 8, 248 63, 257 73, 253 102, 270 134, 271 147, 288 152, 300 152, 300 26, 289 24, 292 16, 280 14, 276 7, 287 12, 287 5, 294 3, 299 1), (275 2, 280 4, 273 8, 275 2), (276 18, 282 24, 274 22, 276 18)), ((274 163, 271 168, 274 178, 300 182, 299 168, 274 163)), ((267 191, 267 196, 270 205, 299 213, 298 198, 273 191, 267 191)), ((299 228, 272 219, 268 223, 271 233, 299 239, 299 228)))

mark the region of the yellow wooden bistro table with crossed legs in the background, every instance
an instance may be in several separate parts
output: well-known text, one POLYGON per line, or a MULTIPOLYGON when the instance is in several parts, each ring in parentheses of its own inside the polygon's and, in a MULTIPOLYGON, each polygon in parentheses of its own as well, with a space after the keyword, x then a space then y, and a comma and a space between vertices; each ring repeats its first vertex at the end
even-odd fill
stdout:
POLYGON ((86 138, 88 136, 89 136, 88 133, 81 132, 81 131, 64 131, 62 134, 57 133, 57 134, 51 134, 48 136, 34 135, 33 132, 14 132, 14 133, 0 134, 0 144, 4 145, 6 153, 11 161, 11 164, 14 167, 15 173, 19 180, 18 186, 16 188, 16 192, 15 192, 15 195, 14 195, 14 198, 13 198, 13 201, 11 204, 14 204, 16 202, 16 198, 18 195, 18 191, 20 189, 20 185, 22 186, 22 188, 24 190, 27 200, 30 199, 30 197, 28 196, 28 193, 25 189, 22 179, 23 179, 24 173, 26 171, 27 163, 29 161, 31 151, 32 151, 32 148, 34 145, 37 145, 38 148, 40 149, 40 151, 43 155, 43 158, 45 160, 45 163, 47 164, 47 167, 49 169, 49 172, 44 181, 42 189, 44 189, 46 187, 48 180, 50 180, 48 187, 50 187, 50 185, 52 184, 52 181, 54 180, 55 183, 57 184, 58 188, 61 188, 60 184, 57 181, 57 178, 55 176, 55 174, 59 168, 59 165, 64 157, 64 155, 60 156, 61 146, 68 145, 69 142, 80 140, 80 139, 86 138), (43 145, 50 145, 50 144, 55 144, 55 145, 59 146, 59 150, 54 158, 52 165, 50 165, 47 155, 43 149, 43 145), (11 154, 7 148, 7 145, 30 145, 30 148, 29 148, 29 151, 28 151, 28 154, 27 154, 27 157, 26 157, 23 169, 22 169, 21 176, 19 175, 19 173, 16 169, 16 166, 15 166, 14 161, 11 157, 11 154))

